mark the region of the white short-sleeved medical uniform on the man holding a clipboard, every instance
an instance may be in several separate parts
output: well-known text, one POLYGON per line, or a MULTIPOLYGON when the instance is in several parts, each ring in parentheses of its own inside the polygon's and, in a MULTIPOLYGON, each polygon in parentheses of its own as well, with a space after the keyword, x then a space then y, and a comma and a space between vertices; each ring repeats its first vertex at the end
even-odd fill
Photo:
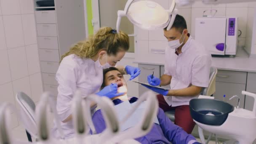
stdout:
MULTIPOLYGON (((175 49, 165 49, 165 75, 171 75, 171 89, 187 88, 191 85, 208 87, 211 55, 203 45, 190 36, 181 48, 179 55, 175 49)), ((172 107, 189 105, 191 99, 198 96, 164 96, 166 103, 172 107)))

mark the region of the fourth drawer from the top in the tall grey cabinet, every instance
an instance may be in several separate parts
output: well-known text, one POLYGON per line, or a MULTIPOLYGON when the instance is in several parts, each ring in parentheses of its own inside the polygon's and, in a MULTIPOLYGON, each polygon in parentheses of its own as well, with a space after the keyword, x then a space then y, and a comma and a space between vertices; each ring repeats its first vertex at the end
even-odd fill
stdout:
POLYGON ((59 50, 39 49, 40 61, 59 62, 59 50))

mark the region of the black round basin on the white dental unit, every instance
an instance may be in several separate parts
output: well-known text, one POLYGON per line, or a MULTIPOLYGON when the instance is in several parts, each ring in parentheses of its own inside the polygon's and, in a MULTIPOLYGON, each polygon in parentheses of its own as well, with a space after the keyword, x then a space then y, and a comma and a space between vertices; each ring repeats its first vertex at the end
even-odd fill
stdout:
POLYGON ((192 99, 189 101, 190 114, 194 120, 206 125, 222 125, 234 107, 216 99, 192 99))

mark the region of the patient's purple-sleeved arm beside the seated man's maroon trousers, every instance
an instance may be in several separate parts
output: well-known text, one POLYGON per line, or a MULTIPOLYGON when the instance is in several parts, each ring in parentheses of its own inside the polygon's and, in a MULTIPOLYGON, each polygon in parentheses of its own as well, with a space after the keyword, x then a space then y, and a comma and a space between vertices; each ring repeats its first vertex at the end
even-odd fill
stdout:
POLYGON ((165 138, 173 144, 188 144, 189 141, 196 141, 194 136, 187 134, 187 132, 184 131, 181 127, 173 124, 161 108, 159 108, 157 119, 159 121, 160 127, 162 128, 163 134, 165 135, 165 138))

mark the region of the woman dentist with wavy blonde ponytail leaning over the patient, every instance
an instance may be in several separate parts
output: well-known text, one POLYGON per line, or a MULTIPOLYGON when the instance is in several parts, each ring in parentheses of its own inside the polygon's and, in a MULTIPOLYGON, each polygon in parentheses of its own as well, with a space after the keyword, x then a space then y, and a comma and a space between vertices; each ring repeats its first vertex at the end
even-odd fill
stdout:
MULTIPOLYGON (((129 37, 127 34, 121 31, 117 33, 110 27, 102 27, 93 37, 75 44, 61 56, 56 73, 56 80, 59 84, 56 108, 65 138, 74 135, 71 101, 77 89, 84 97, 93 93, 107 96, 110 99, 123 95, 123 93, 117 93, 116 83, 99 90, 103 82, 103 69, 115 66, 128 49, 129 37)), ((123 74, 131 75, 130 79, 140 74, 137 67, 117 66, 117 68, 123 74)), ((56 123, 52 131, 56 138, 60 137, 56 123)))

